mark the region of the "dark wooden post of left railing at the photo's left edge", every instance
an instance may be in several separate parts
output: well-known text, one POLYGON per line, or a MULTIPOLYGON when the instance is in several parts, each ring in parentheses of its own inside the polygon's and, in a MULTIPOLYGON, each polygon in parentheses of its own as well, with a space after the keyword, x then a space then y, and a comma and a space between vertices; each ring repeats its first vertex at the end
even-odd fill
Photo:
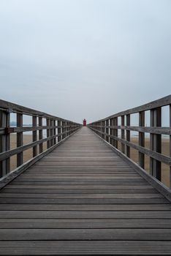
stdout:
MULTIPOLYGON (((0 127, 6 128, 10 124, 10 113, 0 110, 0 127)), ((0 136, 0 152, 10 149, 10 135, 0 136)), ((5 176, 10 171, 10 158, 0 162, 0 177, 5 176)))

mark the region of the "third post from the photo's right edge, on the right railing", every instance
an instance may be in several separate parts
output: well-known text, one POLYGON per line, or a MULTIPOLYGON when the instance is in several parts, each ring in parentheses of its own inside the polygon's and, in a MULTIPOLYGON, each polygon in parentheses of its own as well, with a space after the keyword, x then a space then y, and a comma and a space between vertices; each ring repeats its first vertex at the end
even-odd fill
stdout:
MULTIPOLYGON (((141 111, 139 113, 139 127, 145 126, 145 112, 141 111)), ((144 132, 139 132, 139 146, 145 146, 145 134, 144 132)), ((139 165, 144 169, 144 154, 142 152, 138 152, 139 165)))

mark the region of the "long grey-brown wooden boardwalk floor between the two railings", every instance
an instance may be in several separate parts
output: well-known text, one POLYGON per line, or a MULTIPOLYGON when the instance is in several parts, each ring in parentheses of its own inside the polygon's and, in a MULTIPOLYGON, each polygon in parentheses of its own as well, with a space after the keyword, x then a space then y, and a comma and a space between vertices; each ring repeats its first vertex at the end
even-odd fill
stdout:
POLYGON ((0 203, 0 255, 171 255, 171 204, 86 127, 0 203))

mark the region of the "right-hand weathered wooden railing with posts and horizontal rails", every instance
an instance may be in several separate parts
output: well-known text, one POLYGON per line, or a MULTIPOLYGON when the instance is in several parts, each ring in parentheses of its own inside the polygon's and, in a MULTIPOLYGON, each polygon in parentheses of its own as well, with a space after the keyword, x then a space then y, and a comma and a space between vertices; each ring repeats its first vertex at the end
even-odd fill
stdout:
POLYGON ((136 149, 138 151, 138 165, 142 169, 145 168, 145 155, 150 157, 149 173, 159 181, 161 181, 161 162, 169 167, 171 165, 171 95, 137 108, 116 113, 99 121, 94 121, 88 124, 88 127, 107 143, 110 143, 117 152, 119 151, 126 156, 127 159, 130 158, 130 148, 136 149), (167 116, 169 126, 162 127, 161 108, 167 105, 170 108, 168 111, 170 113, 167 116), (148 110, 150 110, 150 126, 145 127, 145 111, 148 110), (131 118, 134 113, 138 113, 139 116, 138 126, 131 125, 131 118), (118 125, 118 118, 121 120, 120 125, 118 125), (118 130, 121 131, 121 134, 118 134, 118 130), (138 132, 138 144, 130 141, 131 131, 138 132), (145 148, 145 133, 149 135, 150 148, 145 148), (161 135, 169 135, 170 153, 168 156, 161 154, 161 135), (121 144, 120 148, 118 148, 118 143, 121 144))

